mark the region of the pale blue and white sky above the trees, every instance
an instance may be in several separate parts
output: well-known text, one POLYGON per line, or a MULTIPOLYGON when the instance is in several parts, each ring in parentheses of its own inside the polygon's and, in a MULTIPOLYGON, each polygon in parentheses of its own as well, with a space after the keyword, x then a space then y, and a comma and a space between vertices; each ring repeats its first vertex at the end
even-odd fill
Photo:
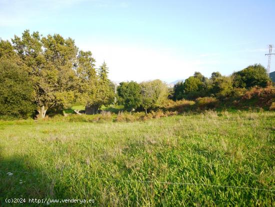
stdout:
MULTIPOLYGON (((0 0, 0 37, 71 37, 113 81, 209 77, 260 63, 275 45, 274 0, 0 0)), ((275 70, 275 56, 271 71, 275 70)))

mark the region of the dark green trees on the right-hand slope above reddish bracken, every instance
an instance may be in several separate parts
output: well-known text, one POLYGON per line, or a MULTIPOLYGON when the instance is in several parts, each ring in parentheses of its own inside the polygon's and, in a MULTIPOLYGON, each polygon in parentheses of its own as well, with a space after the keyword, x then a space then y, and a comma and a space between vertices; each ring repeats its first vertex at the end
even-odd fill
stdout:
POLYGON ((173 100, 195 99, 198 97, 213 96, 224 98, 234 95, 237 89, 248 89, 254 86, 266 87, 271 85, 266 69, 260 64, 249 65, 241 71, 229 76, 222 76, 219 72, 213 72, 210 78, 195 72, 174 85, 171 98, 173 100))

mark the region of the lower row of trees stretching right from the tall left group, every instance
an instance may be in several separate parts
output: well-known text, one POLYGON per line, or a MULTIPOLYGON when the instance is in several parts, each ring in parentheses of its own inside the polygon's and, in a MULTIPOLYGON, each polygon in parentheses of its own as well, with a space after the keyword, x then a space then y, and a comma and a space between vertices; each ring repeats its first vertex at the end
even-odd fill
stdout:
POLYGON ((260 64, 250 65, 229 76, 213 72, 210 78, 195 72, 184 82, 176 83, 172 89, 160 80, 147 82, 122 82, 117 88, 118 103, 128 110, 157 109, 163 107, 167 99, 174 101, 199 97, 214 97, 224 99, 239 95, 251 87, 266 87, 272 85, 266 69, 260 64))

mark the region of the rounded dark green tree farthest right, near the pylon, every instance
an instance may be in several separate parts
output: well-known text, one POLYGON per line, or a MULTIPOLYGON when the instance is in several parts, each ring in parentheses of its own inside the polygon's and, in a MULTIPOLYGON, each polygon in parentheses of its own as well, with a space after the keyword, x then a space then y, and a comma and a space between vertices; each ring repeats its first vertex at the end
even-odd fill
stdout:
POLYGON ((266 69, 260 64, 250 65, 232 76, 233 86, 236 88, 266 87, 270 82, 266 69))

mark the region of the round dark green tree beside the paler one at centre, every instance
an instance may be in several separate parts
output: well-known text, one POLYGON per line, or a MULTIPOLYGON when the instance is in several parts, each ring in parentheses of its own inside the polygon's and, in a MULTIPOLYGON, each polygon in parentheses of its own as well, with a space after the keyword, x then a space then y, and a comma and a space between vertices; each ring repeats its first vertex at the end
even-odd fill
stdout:
POLYGON ((141 105, 141 88, 136 82, 121 82, 117 87, 118 103, 127 110, 136 109, 141 105))

